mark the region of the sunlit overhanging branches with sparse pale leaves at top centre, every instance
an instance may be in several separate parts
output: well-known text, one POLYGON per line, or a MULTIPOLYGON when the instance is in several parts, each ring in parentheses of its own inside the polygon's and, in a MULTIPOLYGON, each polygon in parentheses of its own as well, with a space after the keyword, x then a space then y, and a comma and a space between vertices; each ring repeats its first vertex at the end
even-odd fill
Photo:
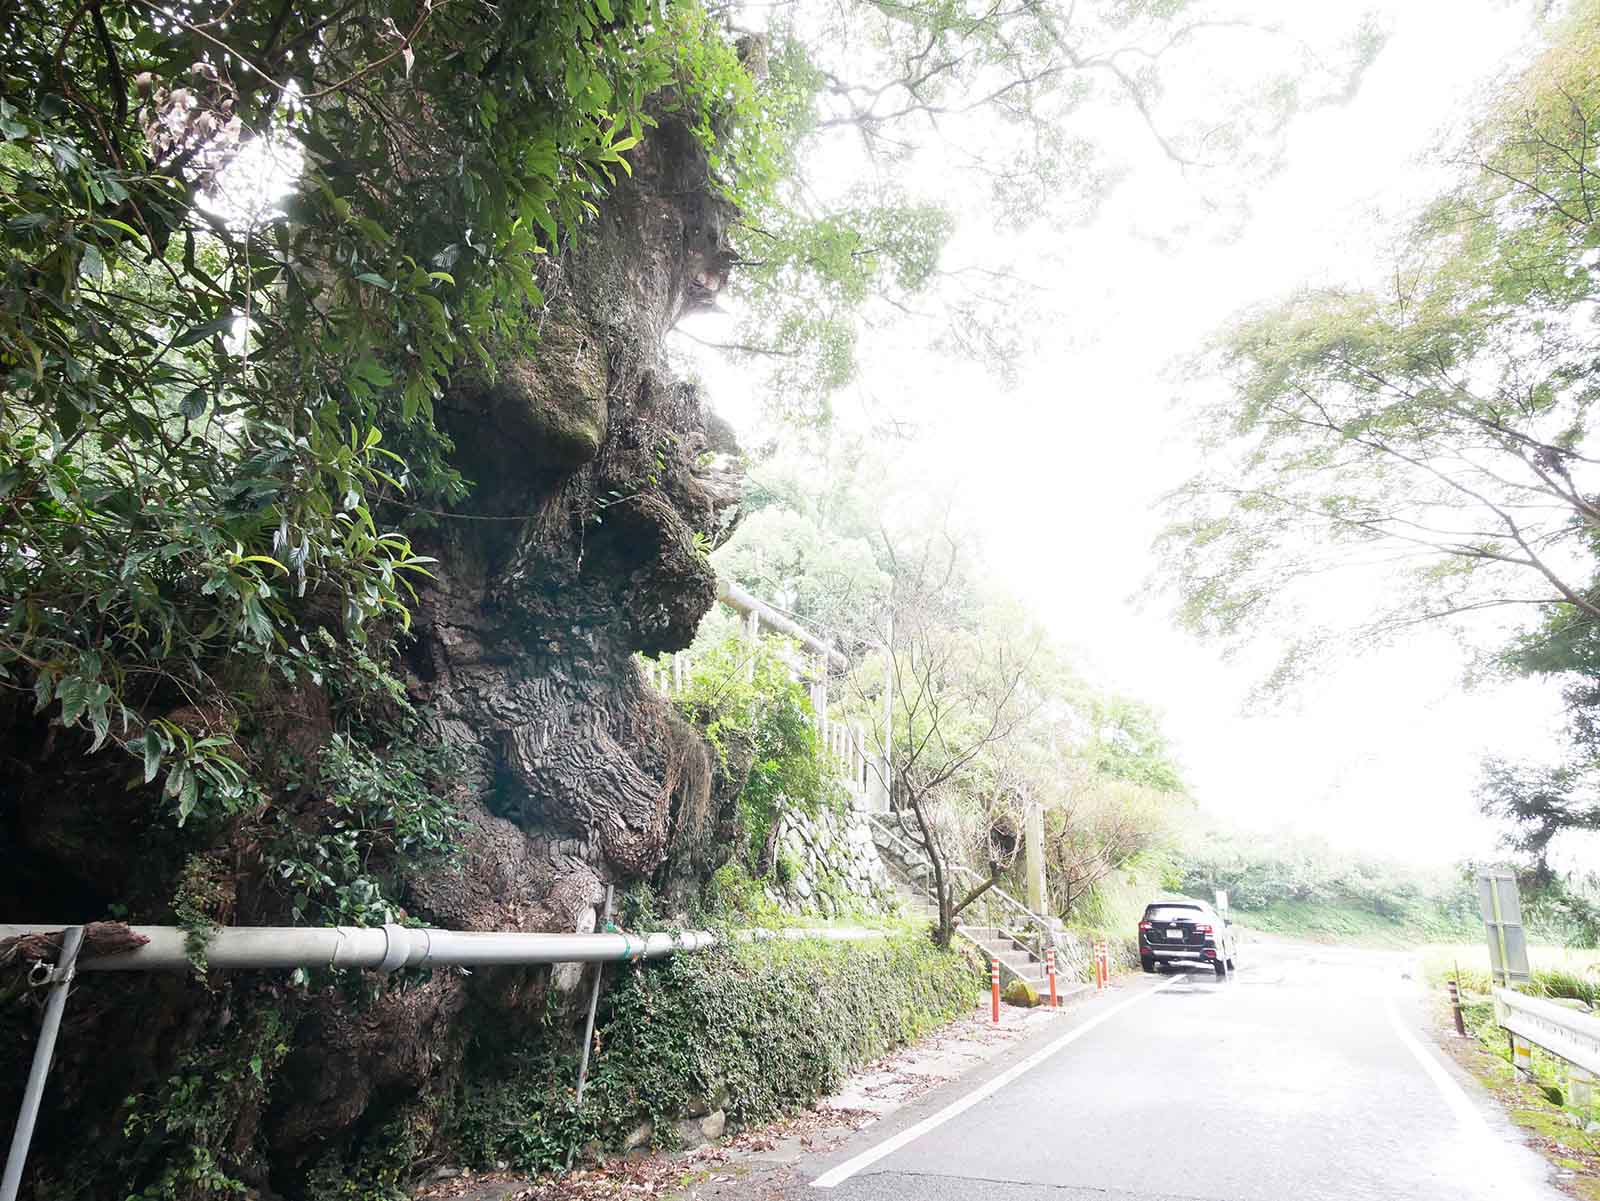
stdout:
POLYGON ((1362 24, 1312 50, 1243 5, 1192 0, 771 11, 750 45, 806 170, 746 208, 730 293, 741 320, 718 345, 765 368, 779 416, 805 419, 853 377, 864 329, 899 318, 997 376, 1013 366, 1014 305, 1038 296, 1019 272, 954 261, 963 211, 1019 232, 1085 221, 1139 149, 1203 203, 1234 206, 1277 162, 1290 118, 1354 94, 1382 45, 1362 24), (1226 85, 1197 70, 1242 43, 1261 53, 1237 58, 1248 66, 1226 85))

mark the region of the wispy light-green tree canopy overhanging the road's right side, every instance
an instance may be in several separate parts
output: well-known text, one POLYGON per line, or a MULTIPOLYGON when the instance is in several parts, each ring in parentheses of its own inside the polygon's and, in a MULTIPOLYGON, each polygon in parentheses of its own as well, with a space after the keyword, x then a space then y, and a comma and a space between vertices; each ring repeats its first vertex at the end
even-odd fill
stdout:
POLYGON ((1480 609, 1600 616, 1597 16, 1579 5, 1477 122, 1381 288, 1304 291, 1218 337, 1208 467, 1158 547, 1192 628, 1293 630, 1293 678, 1334 633, 1302 609, 1336 568, 1371 592, 1370 640, 1480 609))

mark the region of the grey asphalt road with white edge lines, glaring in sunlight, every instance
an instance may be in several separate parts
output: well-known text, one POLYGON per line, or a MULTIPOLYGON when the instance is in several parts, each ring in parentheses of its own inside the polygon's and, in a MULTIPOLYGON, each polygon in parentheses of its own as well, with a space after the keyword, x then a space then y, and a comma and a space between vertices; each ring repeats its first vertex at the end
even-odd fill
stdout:
POLYGON ((1240 960, 1227 982, 1152 977, 1096 998, 984 1075, 802 1164, 805 1191, 1560 1201, 1542 1158, 1421 1031, 1400 956, 1256 944, 1240 960))

